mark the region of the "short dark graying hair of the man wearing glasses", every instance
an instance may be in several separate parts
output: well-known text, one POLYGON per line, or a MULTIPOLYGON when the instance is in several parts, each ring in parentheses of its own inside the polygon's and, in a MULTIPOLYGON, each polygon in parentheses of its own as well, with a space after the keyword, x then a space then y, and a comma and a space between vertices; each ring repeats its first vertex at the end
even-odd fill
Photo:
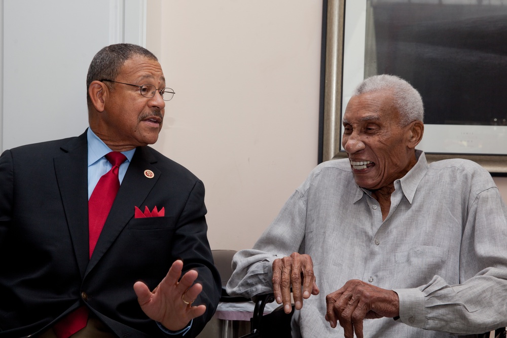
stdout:
MULTIPOLYGON (((157 57, 141 46, 132 44, 116 44, 102 48, 92 59, 86 76, 86 99, 88 106, 91 104, 88 88, 93 81, 116 80, 123 64, 134 56, 143 56, 150 60, 158 61, 157 57)), ((112 88, 113 83, 107 83, 112 88)))

